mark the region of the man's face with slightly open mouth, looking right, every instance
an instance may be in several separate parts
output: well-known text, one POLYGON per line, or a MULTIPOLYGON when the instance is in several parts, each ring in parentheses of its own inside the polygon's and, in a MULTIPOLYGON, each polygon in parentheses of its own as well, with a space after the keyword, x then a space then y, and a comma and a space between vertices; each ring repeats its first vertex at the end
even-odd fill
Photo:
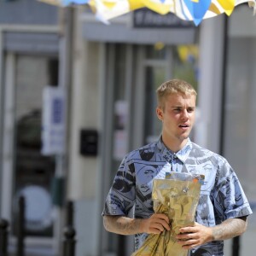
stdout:
POLYGON ((195 122, 195 100, 194 95, 170 94, 166 96, 165 108, 156 109, 163 125, 164 143, 181 143, 182 146, 186 143, 195 122))

